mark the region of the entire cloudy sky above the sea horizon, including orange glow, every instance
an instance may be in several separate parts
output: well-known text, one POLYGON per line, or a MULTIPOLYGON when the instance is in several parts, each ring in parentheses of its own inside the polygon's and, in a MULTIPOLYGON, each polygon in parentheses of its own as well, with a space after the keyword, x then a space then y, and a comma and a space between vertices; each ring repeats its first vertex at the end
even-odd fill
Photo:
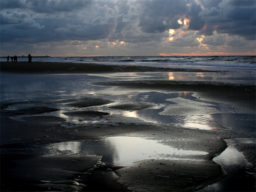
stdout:
POLYGON ((256 55, 255 0, 0 0, 1 56, 256 55))

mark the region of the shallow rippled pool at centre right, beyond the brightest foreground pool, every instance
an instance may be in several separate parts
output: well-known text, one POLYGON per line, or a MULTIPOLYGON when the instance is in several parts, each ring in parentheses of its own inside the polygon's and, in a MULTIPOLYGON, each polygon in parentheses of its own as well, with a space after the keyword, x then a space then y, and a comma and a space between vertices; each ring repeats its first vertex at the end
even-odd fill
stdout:
MULTIPOLYGON (((145 102, 150 102, 155 104, 149 109, 139 110, 139 111, 112 111, 112 113, 119 113, 125 117, 134 117, 135 119, 142 120, 144 122, 152 123, 165 123, 165 124, 176 124, 184 127, 192 127, 198 129, 214 129, 216 125, 211 122, 211 117, 209 114, 205 113, 206 109, 208 113, 219 112, 214 107, 213 104, 208 104, 207 102, 199 102, 196 97, 193 96, 192 92, 175 92, 175 93, 161 93, 161 92, 142 92, 134 93, 132 92, 130 97, 124 98, 123 95, 116 96, 116 99, 127 99, 130 102, 141 102, 143 99, 145 102), (167 106, 167 107, 166 107, 167 106), (176 107, 176 108, 175 108, 176 107), (196 108, 198 107, 198 108, 196 108), (163 109, 165 109, 163 111, 163 109), (173 111, 176 109, 176 111, 173 111), (184 112, 185 115, 179 114, 179 111, 183 109, 188 109, 189 112, 184 112), (167 111, 170 110, 171 112, 167 111), (194 110, 194 111, 191 111, 194 110), (166 114, 163 114, 166 112, 166 114), (188 115, 186 115, 188 114, 188 115), (195 114, 195 115, 194 115, 195 114)), ((111 97, 112 98, 112 97, 111 97)))

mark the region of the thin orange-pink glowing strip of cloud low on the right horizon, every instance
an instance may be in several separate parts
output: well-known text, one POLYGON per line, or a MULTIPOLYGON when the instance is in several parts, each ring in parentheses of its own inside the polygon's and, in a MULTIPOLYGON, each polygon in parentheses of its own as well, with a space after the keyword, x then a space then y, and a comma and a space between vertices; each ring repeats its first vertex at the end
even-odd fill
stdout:
POLYGON ((160 53, 161 56, 238 56, 238 55, 252 55, 256 56, 256 52, 238 52, 238 53, 227 53, 227 52, 195 52, 195 53, 160 53))

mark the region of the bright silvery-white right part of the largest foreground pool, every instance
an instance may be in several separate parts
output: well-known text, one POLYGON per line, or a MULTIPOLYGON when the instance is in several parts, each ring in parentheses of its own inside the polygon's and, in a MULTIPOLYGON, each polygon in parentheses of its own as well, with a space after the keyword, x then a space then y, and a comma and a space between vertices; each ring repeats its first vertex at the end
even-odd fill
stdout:
POLYGON ((195 155, 206 155, 207 152, 178 150, 174 147, 163 145, 156 140, 146 140, 140 137, 117 136, 108 137, 106 142, 115 146, 116 165, 131 165, 135 161, 144 159, 193 159, 195 155))

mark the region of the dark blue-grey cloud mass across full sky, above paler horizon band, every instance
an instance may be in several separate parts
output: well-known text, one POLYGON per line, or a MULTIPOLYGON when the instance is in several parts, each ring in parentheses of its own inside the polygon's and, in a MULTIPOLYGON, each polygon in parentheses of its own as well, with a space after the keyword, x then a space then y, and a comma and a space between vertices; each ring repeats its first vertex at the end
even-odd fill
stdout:
POLYGON ((84 41, 87 45, 98 40, 199 47, 198 38, 203 36, 204 45, 226 43, 235 47, 235 42, 244 45, 255 41, 255 2, 1 0, 1 50, 6 49, 8 43, 17 42, 28 45, 84 41), (176 32, 172 36, 170 29, 176 32), (163 44, 169 37, 173 37, 172 42, 163 44))

